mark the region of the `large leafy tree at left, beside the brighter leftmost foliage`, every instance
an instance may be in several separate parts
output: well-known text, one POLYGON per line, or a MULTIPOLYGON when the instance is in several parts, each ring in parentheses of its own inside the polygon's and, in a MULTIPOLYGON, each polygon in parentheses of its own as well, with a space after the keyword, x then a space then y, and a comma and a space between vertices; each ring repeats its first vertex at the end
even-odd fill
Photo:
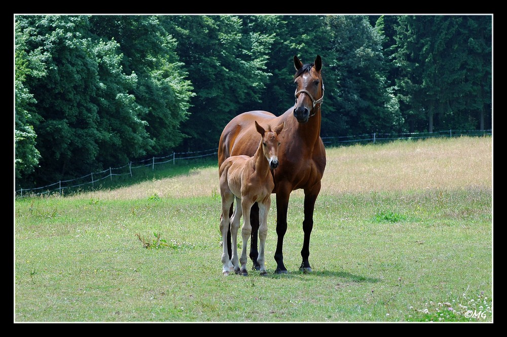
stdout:
POLYGON ((41 60, 46 69, 43 76, 26 77, 40 116, 34 132, 41 159, 25 180, 43 184, 73 178, 122 155, 142 154, 145 122, 128 93, 135 75, 126 76, 118 67, 116 44, 90 34, 88 16, 17 16, 16 26, 25 36, 27 57, 41 60), (121 120, 115 124, 109 116, 121 120), (126 140, 125 133, 137 141, 126 140), (125 139, 123 144, 110 141, 115 137, 125 139), (115 158, 101 157, 101 148, 115 158))

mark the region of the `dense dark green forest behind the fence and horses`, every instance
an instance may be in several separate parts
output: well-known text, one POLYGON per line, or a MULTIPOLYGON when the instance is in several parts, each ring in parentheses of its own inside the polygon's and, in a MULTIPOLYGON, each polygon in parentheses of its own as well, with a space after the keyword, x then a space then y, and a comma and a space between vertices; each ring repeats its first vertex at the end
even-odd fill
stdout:
POLYGON ((492 127, 491 15, 15 16, 15 185, 218 146, 294 104, 322 57, 322 136, 492 127))

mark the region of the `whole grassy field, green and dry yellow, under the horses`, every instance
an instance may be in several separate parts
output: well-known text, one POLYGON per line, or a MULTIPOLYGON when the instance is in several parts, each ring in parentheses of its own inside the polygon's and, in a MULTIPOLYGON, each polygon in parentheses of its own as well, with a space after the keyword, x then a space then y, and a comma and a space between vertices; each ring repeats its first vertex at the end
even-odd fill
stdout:
POLYGON ((273 195, 269 276, 222 275, 213 162, 16 200, 14 321, 493 321, 491 137, 328 148, 327 158, 311 274, 298 270, 304 196, 295 191, 289 273, 273 274, 273 195))

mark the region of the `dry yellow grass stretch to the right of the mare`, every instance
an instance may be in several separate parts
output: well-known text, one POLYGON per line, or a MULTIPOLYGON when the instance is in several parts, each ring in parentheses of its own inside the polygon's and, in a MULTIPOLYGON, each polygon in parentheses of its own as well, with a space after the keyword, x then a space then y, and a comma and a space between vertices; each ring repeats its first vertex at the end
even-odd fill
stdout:
POLYGON ((327 149, 321 194, 492 185, 492 138, 431 138, 327 149))

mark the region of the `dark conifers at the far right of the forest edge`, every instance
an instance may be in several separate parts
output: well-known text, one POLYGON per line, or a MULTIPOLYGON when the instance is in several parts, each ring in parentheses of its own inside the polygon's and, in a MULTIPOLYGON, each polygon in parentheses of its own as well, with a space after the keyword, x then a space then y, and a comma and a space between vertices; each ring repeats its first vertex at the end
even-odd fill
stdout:
POLYGON ((474 115, 484 117, 491 102, 490 17, 401 16, 396 32, 398 97, 410 130, 479 127, 474 115))

